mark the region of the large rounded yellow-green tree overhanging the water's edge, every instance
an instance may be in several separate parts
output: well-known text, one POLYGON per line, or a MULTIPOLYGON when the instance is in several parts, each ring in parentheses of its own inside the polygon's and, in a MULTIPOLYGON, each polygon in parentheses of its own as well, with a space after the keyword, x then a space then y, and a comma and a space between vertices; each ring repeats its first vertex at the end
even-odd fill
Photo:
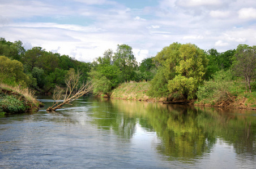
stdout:
POLYGON ((148 94, 190 100, 203 82, 208 60, 204 51, 191 43, 173 43, 156 55, 155 63, 159 70, 148 94))

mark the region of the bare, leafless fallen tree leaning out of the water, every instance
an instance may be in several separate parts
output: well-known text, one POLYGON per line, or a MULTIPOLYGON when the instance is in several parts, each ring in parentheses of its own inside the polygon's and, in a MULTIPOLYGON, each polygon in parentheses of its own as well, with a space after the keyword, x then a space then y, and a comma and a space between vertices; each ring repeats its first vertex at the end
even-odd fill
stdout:
POLYGON ((66 91, 60 87, 56 87, 53 94, 53 105, 50 106, 47 111, 55 111, 61 108, 65 104, 70 104, 72 101, 78 99, 79 97, 88 94, 92 90, 92 83, 80 83, 81 75, 80 73, 75 73, 71 71, 69 77, 66 79, 66 91))

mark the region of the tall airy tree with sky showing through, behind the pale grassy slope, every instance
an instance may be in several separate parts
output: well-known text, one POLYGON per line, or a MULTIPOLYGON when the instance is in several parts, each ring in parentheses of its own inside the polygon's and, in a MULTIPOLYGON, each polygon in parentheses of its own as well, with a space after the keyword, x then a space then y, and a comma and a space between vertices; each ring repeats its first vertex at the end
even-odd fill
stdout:
POLYGON ((117 45, 117 52, 113 56, 114 65, 122 72, 122 82, 133 80, 134 71, 138 66, 132 50, 133 48, 128 45, 117 45))

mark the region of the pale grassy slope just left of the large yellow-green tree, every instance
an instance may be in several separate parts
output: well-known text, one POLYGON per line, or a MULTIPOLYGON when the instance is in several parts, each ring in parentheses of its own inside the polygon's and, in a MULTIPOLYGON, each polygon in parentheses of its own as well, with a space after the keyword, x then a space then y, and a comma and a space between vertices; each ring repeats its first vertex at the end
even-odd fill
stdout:
POLYGON ((150 97, 146 95, 150 83, 148 82, 128 82, 122 83, 119 87, 113 90, 111 98, 125 100, 140 100, 140 101, 165 101, 165 98, 150 97))

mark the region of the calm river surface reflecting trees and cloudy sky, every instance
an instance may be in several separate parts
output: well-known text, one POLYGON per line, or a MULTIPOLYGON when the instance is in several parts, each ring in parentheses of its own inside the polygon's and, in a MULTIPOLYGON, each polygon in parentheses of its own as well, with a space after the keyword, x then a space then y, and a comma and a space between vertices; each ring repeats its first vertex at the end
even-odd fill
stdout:
POLYGON ((256 112, 82 97, 0 117, 0 168, 255 168, 256 112))

